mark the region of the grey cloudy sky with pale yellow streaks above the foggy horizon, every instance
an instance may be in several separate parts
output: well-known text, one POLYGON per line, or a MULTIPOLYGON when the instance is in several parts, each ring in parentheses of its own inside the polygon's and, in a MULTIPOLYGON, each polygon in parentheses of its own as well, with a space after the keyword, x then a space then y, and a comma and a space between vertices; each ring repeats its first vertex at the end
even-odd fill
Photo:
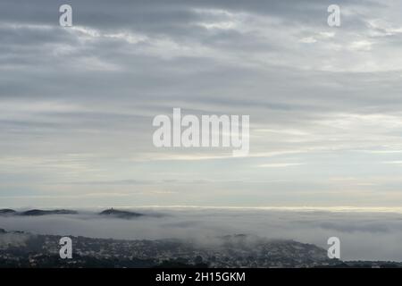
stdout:
POLYGON ((2 0, 0 206, 401 206, 401 9, 2 0), (249 115, 248 156, 155 147, 176 107, 249 115))

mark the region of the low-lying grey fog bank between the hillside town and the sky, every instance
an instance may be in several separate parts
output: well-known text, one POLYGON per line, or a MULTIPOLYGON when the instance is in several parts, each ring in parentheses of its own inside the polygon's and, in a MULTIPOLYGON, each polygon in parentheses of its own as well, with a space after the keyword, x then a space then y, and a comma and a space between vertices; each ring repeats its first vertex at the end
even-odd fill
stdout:
POLYGON ((121 219, 89 211, 80 214, 0 216, 0 228, 114 239, 191 239, 245 233, 289 239, 327 248, 339 237, 343 260, 402 261, 402 214, 250 209, 133 209, 144 215, 121 219))

